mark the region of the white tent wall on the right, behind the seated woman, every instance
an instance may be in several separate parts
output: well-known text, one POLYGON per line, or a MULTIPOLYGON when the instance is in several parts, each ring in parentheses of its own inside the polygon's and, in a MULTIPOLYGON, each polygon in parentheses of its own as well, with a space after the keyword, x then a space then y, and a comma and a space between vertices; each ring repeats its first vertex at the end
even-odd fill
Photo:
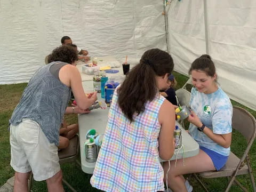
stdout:
POLYGON ((206 53, 217 68, 218 81, 231 99, 256 110, 256 1, 172 1, 167 7, 169 51, 174 70, 188 75, 191 63, 206 53))

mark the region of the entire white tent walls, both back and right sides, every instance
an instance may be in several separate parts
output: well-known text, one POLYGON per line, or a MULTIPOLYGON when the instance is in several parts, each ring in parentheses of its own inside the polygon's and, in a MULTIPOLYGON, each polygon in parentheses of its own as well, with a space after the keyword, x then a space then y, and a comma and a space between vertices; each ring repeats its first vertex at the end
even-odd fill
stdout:
POLYGON ((164 17, 161 0, 0 0, 0 84, 28 82, 67 35, 90 55, 119 61, 168 46, 175 70, 185 75, 209 52, 222 89, 256 110, 256 2, 205 2, 173 0, 164 17))

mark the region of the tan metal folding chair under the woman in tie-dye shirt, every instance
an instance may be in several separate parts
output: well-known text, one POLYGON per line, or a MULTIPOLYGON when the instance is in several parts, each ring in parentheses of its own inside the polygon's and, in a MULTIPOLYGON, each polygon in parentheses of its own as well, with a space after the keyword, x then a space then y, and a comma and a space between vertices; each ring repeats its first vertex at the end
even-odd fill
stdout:
MULTIPOLYGON (((249 151, 256 137, 256 120, 247 110, 233 106, 232 128, 241 133, 247 141, 247 147, 243 156, 238 158, 234 153, 230 152, 228 161, 219 171, 205 171, 198 173, 202 178, 219 178, 229 177, 230 181, 226 191, 230 190, 231 185, 235 182, 243 191, 247 191, 245 187, 236 179, 237 175, 249 174, 252 182, 253 191, 256 191, 255 180, 253 177, 252 167, 249 159, 249 151)), ((235 152, 235 151, 234 151, 235 152)), ((205 191, 208 191, 203 182, 198 178, 197 174, 193 174, 196 180, 201 184, 205 191)))

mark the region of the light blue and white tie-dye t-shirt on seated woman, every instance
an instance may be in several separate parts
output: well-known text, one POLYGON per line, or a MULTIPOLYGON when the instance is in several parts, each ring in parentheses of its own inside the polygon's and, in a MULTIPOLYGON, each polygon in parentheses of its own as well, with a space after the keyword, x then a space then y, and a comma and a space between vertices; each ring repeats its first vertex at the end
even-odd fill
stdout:
MULTIPOLYGON (((215 134, 227 134, 232 132, 231 119, 233 107, 227 94, 219 87, 211 94, 191 90, 189 105, 206 127, 215 134)), ((194 124, 189 125, 189 133, 198 142, 199 146, 213 150, 221 155, 228 156, 230 147, 224 148, 211 140, 206 134, 197 130, 194 124)))

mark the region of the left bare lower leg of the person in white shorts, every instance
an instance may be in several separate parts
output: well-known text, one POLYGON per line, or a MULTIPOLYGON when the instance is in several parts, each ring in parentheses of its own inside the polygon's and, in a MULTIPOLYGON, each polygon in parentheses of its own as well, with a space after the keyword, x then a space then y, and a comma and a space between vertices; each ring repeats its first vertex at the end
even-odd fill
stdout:
POLYGON ((30 172, 27 173, 20 173, 15 172, 14 175, 14 186, 13 186, 13 192, 28 192, 28 178, 29 178, 30 172))

